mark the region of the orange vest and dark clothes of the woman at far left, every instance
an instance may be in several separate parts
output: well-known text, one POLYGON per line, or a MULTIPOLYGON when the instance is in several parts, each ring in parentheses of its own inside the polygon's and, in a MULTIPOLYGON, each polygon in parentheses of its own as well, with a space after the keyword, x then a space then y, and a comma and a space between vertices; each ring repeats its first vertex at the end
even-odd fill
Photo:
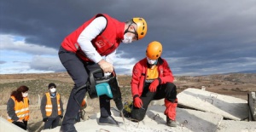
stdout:
POLYGON ((22 129, 26 130, 27 121, 29 119, 29 100, 27 97, 23 97, 23 100, 18 101, 15 96, 11 96, 7 102, 7 113, 8 121, 10 123, 15 123, 22 129), (18 122, 18 120, 22 122, 18 122))

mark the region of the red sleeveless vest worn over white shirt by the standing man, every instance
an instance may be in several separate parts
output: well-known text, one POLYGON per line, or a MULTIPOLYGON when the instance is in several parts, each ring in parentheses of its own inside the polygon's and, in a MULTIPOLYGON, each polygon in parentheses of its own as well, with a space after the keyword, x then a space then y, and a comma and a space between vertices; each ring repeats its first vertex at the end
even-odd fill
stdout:
POLYGON ((91 40, 91 43, 96 48, 96 51, 102 56, 112 53, 119 47, 121 40, 124 39, 125 22, 119 22, 118 20, 110 17, 108 14, 96 14, 95 17, 86 21, 77 30, 65 37, 61 43, 61 46, 67 51, 76 53, 82 60, 90 61, 80 48, 77 41, 81 32, 83 32, 84 29, 90 25, 92 20, 99 16, 103 16, 107 19, 107 26, 101 34, 91 40))

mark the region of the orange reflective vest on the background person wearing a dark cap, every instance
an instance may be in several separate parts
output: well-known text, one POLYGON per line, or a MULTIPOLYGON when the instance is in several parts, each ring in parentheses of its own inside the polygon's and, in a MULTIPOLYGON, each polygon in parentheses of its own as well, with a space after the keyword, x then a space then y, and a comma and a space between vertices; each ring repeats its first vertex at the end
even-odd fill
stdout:
MULTIPOLYGON (((59 93, 56 93, 56 98, 57 98, 57 106, 58 106, 58 115, 61 115, 61 95, 59 93)), ((45 112, 46 116, 49 117, 52 112, 52 104, 50 100, 50 95, 49 92, 45 93, 46 95, 46 106, 45 106, 45 112)))

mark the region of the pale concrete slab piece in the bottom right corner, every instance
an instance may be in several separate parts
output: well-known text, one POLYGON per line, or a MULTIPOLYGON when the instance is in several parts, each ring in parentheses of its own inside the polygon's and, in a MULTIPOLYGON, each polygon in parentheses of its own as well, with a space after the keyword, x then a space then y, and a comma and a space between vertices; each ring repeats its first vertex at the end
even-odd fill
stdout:
POLYGON ((217 132, 255 132, 256 122, 223 120, 219 125, 217 132))

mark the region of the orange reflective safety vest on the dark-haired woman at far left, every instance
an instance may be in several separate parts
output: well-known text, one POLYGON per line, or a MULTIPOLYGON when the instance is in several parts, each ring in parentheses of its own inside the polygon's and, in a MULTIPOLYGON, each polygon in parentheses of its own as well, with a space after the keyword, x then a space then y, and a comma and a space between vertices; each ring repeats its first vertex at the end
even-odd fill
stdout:
MULTIPOLYGON (((20 120, 28 121, 29 118, 29 108, 28 108, 28 98, 23 98, 23 101, 18 101, 15 99, 15 96, 11 96, 11 99, 15 101, 15 113, 20 120)), ((12 120, 8 116, 8 121, 12 123, 12 120)))

